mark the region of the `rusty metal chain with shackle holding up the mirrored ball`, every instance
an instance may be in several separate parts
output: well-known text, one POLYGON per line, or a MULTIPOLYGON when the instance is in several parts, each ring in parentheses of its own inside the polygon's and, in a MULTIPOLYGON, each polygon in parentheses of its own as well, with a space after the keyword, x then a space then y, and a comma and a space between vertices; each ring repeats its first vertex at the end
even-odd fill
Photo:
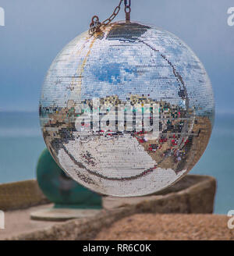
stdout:
POLYGON ((126 12, 126 21, 130 20, 130 12, 131 12, 131 0, 120 0, 119 5, 115 7, 114 12, 112 13, 111 16, 108 17, 108 19, 104 20, 103 22, 99 21, 98 16, 93 16, 91 23, 90 23, 90 29, 89 29, 89 34, 93 35, 95 32, 100 31, 101 26, 107 26, 109 23, 112 22, 112 20, 115 19, 115 17, 118 15, 122 2, 124 1, 125 5, 125 12, 126 12))

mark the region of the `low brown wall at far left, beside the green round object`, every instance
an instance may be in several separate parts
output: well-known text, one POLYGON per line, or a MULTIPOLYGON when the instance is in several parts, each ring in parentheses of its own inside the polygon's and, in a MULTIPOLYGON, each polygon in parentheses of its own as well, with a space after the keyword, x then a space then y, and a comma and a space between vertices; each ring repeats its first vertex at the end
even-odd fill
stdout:
POLYGON ((10 211, 48 204, 36 180, 0 184, 0 210, 10 211))

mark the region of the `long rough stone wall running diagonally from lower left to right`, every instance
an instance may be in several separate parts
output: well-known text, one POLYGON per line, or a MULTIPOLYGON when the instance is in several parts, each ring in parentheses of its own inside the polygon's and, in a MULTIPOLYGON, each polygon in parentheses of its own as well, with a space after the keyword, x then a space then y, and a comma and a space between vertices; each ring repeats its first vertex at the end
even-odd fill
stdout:
POLYGON ((75 219, 36 231, 15 234, 13 240, 90 240, 101 229, 136 213, 211 213, 216 182, 210 176, 186 176, 161 195, 135 198, 104 198, 99 214, 87 219, 75 219), (179 185, 180 183, 180 185, 179 185), (180 187, 180 189, 179 189, 180 187), (182 189, 182 190, 181 190, 182 189))

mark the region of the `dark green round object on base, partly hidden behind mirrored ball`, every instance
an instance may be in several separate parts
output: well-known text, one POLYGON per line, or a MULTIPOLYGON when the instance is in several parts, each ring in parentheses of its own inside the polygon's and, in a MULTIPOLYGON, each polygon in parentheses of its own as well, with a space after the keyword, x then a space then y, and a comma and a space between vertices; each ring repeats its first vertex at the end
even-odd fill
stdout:
POLYGON ((47 148, 37 162, 37 182, 55 208, 101 208, 101 196, 69 178, 47 148))

